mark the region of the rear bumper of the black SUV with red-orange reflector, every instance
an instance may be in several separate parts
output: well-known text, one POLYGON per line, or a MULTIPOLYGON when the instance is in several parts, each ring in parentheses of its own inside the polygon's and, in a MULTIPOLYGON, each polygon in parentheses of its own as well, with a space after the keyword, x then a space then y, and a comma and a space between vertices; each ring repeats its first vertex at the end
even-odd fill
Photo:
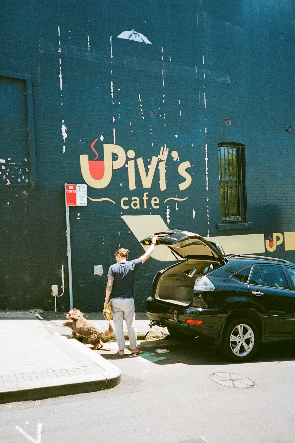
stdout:
POLYGON ((152 297, 146 300, 146 311, 149 319, 157 321, 161 326, 169 326, 186 334, 209 339, 219 344, 220 332, 226 314, 217 309, 186 308, 159 303, 152 297), (201 320, 201 324, 187 324, 186 320, 201 320))

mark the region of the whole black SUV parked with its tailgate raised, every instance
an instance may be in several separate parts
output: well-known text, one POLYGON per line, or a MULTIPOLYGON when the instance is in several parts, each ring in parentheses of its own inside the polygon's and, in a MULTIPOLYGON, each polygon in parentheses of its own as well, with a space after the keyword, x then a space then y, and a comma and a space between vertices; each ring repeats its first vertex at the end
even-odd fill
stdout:
POLYGON ((167 326, 173 338, 207 338, 232 361, 252 358, 259 342, 295 338, 295 264, 224 254, 209 238, 176 229, 141 243, 154 235, 179 262, 153 280, 151 326, 167 326))

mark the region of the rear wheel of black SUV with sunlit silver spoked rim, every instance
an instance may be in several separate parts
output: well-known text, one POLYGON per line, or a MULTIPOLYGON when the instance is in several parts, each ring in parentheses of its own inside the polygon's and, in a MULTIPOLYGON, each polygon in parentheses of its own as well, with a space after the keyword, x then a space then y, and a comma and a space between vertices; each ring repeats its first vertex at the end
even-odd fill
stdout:
POLYGON ((257 351, 258 341, 258 330, 252 320, 235 319, 223 332, 222 352, 231 361, 249 361, 257 351))

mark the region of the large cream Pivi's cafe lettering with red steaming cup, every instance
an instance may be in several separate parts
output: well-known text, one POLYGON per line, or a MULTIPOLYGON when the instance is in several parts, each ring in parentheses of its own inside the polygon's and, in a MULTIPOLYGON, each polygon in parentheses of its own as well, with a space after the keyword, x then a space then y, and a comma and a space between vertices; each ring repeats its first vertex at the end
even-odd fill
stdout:
MULTIPOLYGON (((88 155, 80 155, 80 167, 83 178, 85 182, 96 189, 106 188, 109 183, 111 183, 113 171, 124 167, 126 169, 126 174, 128 175, 129 190, 134 190, 137 188, 137 183, 135 181, 135 169, 138 168, 140 180, 143 188, 150 188, 153 181, 159 183, 160 191, 166 189, 166 168, 169 161, 178 161, 179 156, 177 151, 172 151, 169 153, 169 148, 161 147, 159 155, 153 155, 150 163, 145 167, 142 157, 135 159, 135 152, 132 149, 127 151, 116 144, 103 144, 103 160, 97 160, 98 153, 96 152, 94 145, 96 141, 94 140, 91 144, 92 151, 95 152, 96 157, 93 160, 89 160, 88 155), (115 155, 113 155, 115 154, 115 155), (115 159, 114 159, 115 157, 115 159), (117 157, 117 158, 116 158, 117 157), (126 163, 127 158, 127 163, 126 163)), ((179 174, 179 191, 187 189, 192 183, 192 176, 189 173, 189 169, 192 167, 189 161, 184 161, 179 163, 177 171, 179 174)), ((125 171, 124 171, 125 172, 125 171)), ((107 200, 113 204, 119 204, 123 209, 147 209, 148 201, 154 209, 159 209, 161 203, 166 203, 169 200, 184 201, 188 198, 188 194, 183 198, 176 197, 172 195, 169 198, 161 199, 161 196, 151 196, 148 192, 145 192, 139 197, 123 197, 120 198, 118 202, 115 202, 111 198, 90 198, 94 202, 100 202, 107 200)))

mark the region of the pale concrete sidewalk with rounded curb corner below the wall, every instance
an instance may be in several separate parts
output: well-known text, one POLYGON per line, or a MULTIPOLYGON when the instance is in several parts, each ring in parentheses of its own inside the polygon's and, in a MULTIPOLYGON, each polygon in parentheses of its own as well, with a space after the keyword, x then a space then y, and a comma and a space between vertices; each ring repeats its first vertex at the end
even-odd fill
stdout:
MULTIPOLYGON (((107 328, 101 313, 84 316, 107 328)), ((135 318, 142 340, 150 331, 149 320, 145 314, 135 318)), ((99 391, 120 383, 119 368, 91 345, 73 339, 64 321, 65 315, 55 312, 0 311, 0 403, 99 391)), ((161 331, 152 334, 162 337, 161 331)), ((118 348, 112 345, 115 353, 118 348)))

